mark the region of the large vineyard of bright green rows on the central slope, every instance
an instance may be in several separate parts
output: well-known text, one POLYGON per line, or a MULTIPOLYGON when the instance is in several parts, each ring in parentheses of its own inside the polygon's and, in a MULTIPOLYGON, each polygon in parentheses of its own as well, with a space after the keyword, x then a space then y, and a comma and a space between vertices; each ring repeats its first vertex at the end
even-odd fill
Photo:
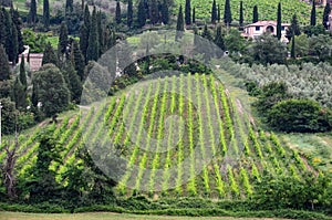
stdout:
MULTIPOLYGON (((243 199, 266 172, 301 178, 303 171, 313 171, 282 138, 257 128, 241 102, 212 75, 147 81, 94 107, 68 114, 56 125, 40 125, 20 135, 22 156, 17 166, 21 177, 37 161, 37 137, 43 126, 63 146, 62 163, 53 161, 50 167, 63 185, 63 174, 80 163, 75 154, 80 147, 87 143, 116 146, 118 157, 127 161, 115 189, 122 196, 243 199)), ((1 149, 0 160, 4 157, 1 149)))

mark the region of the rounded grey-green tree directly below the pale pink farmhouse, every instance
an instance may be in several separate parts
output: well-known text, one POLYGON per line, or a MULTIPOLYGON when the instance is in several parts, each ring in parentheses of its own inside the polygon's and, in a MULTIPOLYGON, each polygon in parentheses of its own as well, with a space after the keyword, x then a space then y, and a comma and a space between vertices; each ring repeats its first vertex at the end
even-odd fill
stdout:
POLYGON ((249 50, 253 60, 263 65, 286 63, 287 48, 271 34, 258 36, 249 50))

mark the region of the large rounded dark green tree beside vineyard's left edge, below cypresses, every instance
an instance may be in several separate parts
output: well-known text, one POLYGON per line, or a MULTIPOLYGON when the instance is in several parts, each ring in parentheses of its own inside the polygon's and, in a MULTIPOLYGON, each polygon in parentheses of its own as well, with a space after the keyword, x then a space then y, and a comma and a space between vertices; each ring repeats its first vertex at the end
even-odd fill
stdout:
POLYGON ((70 103, 70 91, 63 74, 53 64, 43 65, 34 73, 33 86, 37 86, 38 102, 42 102, 43 113, 50 117, 64 111, 70 103))

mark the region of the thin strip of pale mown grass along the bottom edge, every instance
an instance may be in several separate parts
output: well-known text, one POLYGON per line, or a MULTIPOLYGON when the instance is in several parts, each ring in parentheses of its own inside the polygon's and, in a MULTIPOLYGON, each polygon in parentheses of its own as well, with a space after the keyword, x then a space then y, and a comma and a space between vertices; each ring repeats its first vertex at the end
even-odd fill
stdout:
MULTIPOLYGON (((22 213, 22 212, 0 212, 0 220, 124 220, 124 219, 173 219, 173 220, 189 220, 189 219, 218 219, 218 220, 262 220, 261 218, 230 218, 230 217, 169 217, 169 216, 138 216, 127 213, 112 212, 90 212, 90 213, 22 213)), ((266 220, 267 218, 264 218, 266 220)), ((272 220, 272 219, 268 219, 272 220)))

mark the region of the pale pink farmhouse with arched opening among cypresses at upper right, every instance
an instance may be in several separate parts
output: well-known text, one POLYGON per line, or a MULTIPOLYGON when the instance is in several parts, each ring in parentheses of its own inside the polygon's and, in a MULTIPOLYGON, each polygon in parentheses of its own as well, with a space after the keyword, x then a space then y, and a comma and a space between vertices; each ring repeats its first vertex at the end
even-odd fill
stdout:
MULTIPOLYGON (((281 41, 288 42, 286 31, 290 27, 289 23, 281 24, 281 41)), ((277 21, 258 21, 245 27, 242 36, 255 39, 263 33, 277 34, 277 21)))

